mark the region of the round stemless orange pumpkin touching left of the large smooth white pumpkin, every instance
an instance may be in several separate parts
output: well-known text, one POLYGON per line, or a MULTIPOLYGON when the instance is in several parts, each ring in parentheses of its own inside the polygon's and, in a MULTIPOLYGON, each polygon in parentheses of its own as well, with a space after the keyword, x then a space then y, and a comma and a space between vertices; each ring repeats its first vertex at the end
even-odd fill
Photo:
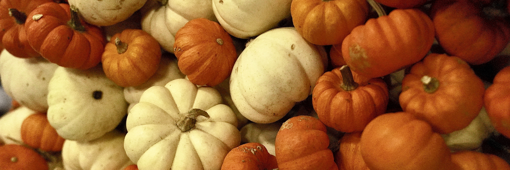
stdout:
POLYGON ((206 18, 193 19, 177 31, 173 52, 179 69, 200 86, 221 83, 230 76, 237 59, 230 35, 206 18))

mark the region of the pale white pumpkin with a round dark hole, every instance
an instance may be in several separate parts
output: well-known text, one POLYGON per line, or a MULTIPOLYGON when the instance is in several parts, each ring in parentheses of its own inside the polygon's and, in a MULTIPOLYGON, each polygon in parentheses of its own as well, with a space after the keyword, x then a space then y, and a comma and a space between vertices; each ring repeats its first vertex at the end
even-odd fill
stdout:
POLYGON ((48 122, 65 139, 89 141, 112 131, 127 113, 123 89, 102 66, 59 67, 48 86, 48 122))

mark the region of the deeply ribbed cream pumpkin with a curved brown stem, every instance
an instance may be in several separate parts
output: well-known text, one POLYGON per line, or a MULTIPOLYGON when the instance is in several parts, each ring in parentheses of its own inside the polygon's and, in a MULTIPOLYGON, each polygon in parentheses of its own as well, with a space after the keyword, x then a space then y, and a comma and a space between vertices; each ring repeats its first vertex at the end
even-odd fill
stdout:
POLYGON ((215 89, 182 78, 147 89, 127 116, 127 156, 140 170, 219 170, 228 151, 240 145, 236 115, 221 101, 215 89), (209 118, 185 119, 192 108, 209 118))

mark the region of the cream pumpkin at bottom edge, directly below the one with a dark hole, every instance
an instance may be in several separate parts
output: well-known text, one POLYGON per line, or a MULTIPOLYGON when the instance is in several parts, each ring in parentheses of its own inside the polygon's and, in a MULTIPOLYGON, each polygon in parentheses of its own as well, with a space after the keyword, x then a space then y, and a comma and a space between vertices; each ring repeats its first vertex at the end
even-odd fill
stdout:
POLYGON ((122 170, 133 164, 124 152, 124 134, 111 131, 91 141, 66 140, 62 163, 66 170, 122 170))

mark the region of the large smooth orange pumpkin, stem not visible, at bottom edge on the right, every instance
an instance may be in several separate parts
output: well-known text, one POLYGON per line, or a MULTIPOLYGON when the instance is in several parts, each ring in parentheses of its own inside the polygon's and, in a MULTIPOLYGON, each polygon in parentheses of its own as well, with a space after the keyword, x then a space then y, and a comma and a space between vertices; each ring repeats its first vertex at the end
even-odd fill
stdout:
POLYGON ((360 143, 363 160, 371 170, 453 169, 450 150, 441 135, 406 112, 372 120, 360 143))

